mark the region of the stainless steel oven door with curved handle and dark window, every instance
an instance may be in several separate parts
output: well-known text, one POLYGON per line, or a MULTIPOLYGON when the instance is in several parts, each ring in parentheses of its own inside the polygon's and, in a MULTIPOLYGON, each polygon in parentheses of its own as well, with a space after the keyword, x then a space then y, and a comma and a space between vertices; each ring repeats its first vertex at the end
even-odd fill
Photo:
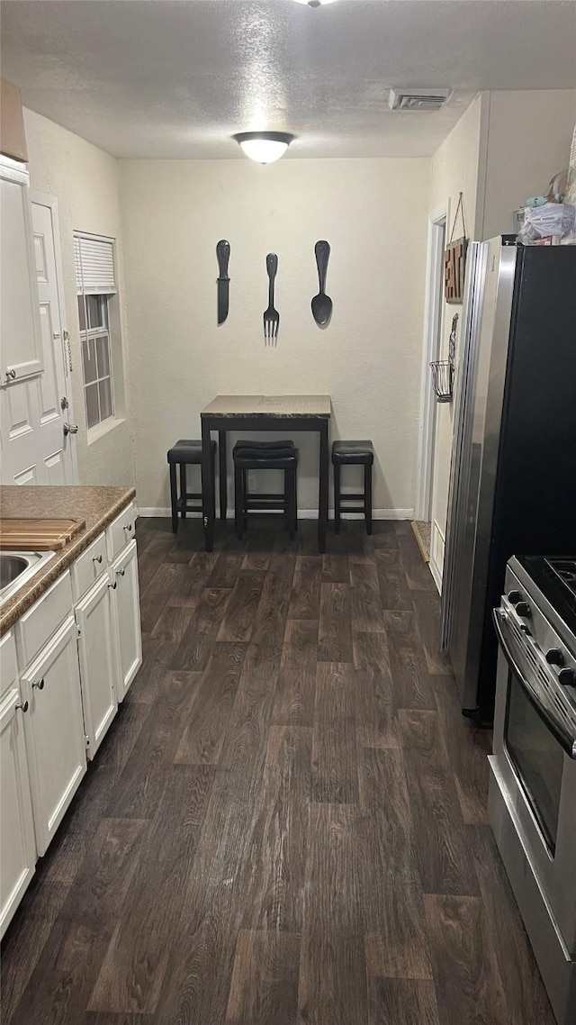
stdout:
POLYGON ((498 676, 494 754, 532 870, 570 953, 576 952, 576 760, 554 717, 545 660, 513 612, 496 609, 498 676))

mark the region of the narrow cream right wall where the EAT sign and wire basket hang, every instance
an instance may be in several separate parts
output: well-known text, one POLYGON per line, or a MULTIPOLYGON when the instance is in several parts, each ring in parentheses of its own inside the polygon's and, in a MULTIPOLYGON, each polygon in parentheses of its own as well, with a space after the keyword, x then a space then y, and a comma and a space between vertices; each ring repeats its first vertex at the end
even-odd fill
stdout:
MULTIPOLYGON (((445 208, 448 211, 447 240, 450 237, 460 192, 463 194, 468 237, 472 239, 478 237, 478 222, 482 216, 484 205, 482 179, 479 187, 479 168, 485 160, 485 137, 486 95, 479 94, 431 159, 429 210, 436 211, 439 208, 445 208)), ((460 238, 462 234, 462 221, 458 215, 454 238, 460 238)), ((440 358, 444 360, 448 359, 448 338, 455 313, 459 314, 457 331, 459 341, 462 332, 462 306, 460 303, 443 301, 440 358)), ((456 350, 457 360, 458 350, 456 350)), ((430 568, 435 578, 440 580, 446 537, 454 412, 452 404, 449 403, 438 403, 436 408, 430 568)))

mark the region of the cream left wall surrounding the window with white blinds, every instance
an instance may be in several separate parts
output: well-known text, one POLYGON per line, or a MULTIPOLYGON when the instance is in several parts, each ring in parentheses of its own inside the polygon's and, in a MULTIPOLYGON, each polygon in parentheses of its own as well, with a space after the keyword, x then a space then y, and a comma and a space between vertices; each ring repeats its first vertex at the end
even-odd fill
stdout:
POLYGON ((81 484, 132 484, 134 460, 128 388, 117 398, 125 418, 112 430, 87 442, 78 304, 74 272, 74 231, 93 232, 116 239, 119 277, 118 304, 125 381, 129 362, 123 300, 122 232, 118 161, 108 153, 32 111, 25 110, 31 188, 49 193, 58 201, 67 328, 73 356, 74 415, 78 473, 81 484))

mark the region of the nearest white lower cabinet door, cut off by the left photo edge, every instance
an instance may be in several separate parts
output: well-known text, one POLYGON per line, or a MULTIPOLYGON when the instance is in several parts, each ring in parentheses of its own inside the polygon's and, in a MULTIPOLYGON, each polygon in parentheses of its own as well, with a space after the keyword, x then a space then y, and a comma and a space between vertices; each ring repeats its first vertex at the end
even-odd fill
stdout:
POLYGON ((8 928, 36 864, 25 708, 19 688, 12 687, 0 705, 0 937, 8 928))

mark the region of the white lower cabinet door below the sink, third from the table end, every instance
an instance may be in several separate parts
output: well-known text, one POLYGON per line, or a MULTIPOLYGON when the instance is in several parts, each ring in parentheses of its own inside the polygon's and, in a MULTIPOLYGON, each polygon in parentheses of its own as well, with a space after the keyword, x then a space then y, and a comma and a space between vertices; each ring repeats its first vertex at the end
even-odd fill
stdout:
POLYGON ((45 854, 86 772, 77 631, 69 616, 20 678, 34 828, 45 854))

